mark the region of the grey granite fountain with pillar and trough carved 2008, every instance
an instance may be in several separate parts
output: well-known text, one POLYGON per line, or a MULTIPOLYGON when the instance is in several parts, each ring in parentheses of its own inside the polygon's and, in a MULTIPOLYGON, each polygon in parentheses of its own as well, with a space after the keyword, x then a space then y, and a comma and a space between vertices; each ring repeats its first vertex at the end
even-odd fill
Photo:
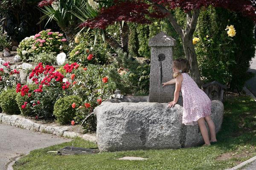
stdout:
MULTIPOLYGON (((182 124, 182 96, 174 108, 175 86, 162 88, 172 79, 173 46, 176 41, 160 32, 149 40, 151 70, 149 96, 124 97, 102 102, 97 116, 97 144, 101 151, 192 147, 204 143, 198 125, 182 124)), ((212 101, 216 132, 221 129, 224 106, 212 101)))

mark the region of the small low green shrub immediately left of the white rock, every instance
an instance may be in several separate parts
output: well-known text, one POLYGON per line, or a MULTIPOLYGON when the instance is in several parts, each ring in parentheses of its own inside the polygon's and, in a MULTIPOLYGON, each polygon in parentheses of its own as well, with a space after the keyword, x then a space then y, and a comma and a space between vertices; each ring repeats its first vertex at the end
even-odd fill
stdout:
POLYGON ((34 62, 42 62, 46 65, 55 65, 57 54, 55 52, 41 52, 34 56, 34 62))

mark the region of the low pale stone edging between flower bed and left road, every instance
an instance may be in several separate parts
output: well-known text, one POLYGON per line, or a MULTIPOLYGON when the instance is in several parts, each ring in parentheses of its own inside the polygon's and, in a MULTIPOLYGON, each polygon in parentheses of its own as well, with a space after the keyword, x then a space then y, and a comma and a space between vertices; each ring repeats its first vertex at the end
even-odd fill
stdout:
POLYGON ((7 115, 5 113, 0 113, 0 123, 68 138, 75 138, 79 136, 84 140, 97 143, 96 136, 69 131, 69 126, 41 125, 19 115, 7 115))

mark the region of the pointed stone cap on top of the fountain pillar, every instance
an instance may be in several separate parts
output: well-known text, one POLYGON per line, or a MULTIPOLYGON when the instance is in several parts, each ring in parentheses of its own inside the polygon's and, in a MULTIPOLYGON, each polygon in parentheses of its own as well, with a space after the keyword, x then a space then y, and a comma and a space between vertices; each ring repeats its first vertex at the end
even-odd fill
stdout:
POLYGON ((153 46, 175 46, 176 45, 176 40, 161 31, 159 34, 156 36, 152 37, 148 41, 148 45, 153 47, 153 46))

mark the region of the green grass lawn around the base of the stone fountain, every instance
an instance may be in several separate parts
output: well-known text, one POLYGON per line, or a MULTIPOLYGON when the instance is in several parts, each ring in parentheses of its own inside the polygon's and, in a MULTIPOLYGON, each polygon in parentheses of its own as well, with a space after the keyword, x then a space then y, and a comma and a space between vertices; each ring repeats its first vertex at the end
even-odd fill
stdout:
MULTIPOLYGON (((95 155, 59 156, 47 151, 72 142, 34 150, 14 166, 15 170, 220 170, 233 167, 256 155, 256 102, 248 96, 228 96, 218 142, 209 147, 185 149, 133 150, 95 155), (140 156, 144 161, 116 160, 140 156)), ((96 147, 81 139, 77 147, 96 147)))

